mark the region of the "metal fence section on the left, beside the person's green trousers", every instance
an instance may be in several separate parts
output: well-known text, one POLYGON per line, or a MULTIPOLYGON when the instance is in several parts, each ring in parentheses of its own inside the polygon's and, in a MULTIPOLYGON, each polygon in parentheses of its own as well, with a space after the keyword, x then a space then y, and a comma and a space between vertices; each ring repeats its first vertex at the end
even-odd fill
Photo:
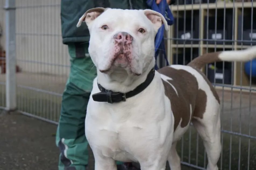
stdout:
MULTIPOLYGON (((3 7, 4 1, 0 2, 3 7)), ((68 51, 61 37, 60 0, 16 1, 15 12, 17 108, 57 122, 69 73, 68 51)), ((0 20, 5 28, 3 10, 0 20)), ((4 40, 1 44, 5 45, 4 40)), ((5 74, 0 76, 0 89, 0 104, 5 107, 5 74)))

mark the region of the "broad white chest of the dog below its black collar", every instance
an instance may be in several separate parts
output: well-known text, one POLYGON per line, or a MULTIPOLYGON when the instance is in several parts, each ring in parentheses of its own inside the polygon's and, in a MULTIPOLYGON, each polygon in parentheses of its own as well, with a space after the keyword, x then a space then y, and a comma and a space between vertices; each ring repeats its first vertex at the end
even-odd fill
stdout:
POLYGON ((148 152, 145 146, 166 145, 173 129, 170 108, 165 108, 160 94, 155 96, 159 97, 156 101, 145 94, 142 96, 118 105, 91 100, 86 116, 86 137, 90 145, 119 161, 137 161, 138 157, 145 157, 147 154, 141 155, 148 152))

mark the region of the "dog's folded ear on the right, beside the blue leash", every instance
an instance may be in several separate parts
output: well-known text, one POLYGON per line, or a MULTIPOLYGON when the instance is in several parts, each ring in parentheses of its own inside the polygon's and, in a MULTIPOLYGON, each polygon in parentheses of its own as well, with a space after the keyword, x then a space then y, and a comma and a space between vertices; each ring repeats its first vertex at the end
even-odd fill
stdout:
POLYGON ((162 24, 164 24, 165 30, 168 30, 167 21, 162 14, 151 9, 145 9, 143 12, 146 17, 154 24, 156 30, 158 30, 162 24))

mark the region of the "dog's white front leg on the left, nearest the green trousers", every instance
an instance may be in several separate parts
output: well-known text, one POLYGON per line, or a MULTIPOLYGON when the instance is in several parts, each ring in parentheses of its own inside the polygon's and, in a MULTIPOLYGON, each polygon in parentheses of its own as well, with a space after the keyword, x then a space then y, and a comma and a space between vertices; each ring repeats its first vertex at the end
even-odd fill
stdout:
POLYGON ((95 170, 117 170, 115 160, 110 157, 104 157, 94 154, 95 170))

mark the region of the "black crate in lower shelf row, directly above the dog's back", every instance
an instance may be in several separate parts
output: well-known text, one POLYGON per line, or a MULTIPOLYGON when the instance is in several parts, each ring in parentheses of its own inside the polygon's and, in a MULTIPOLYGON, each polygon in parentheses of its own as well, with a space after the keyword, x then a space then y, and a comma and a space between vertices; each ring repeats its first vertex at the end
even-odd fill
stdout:
MULTIPOLYGON (((198 57, 198 49, 192 49, 192 60, 198 57)), ((191 61, 191 49, 185 49, 185 55, 183 53, 173 54, 173 64, 187 65, 191 61), (185 58, 185 63, 184 63, 185 58)))

